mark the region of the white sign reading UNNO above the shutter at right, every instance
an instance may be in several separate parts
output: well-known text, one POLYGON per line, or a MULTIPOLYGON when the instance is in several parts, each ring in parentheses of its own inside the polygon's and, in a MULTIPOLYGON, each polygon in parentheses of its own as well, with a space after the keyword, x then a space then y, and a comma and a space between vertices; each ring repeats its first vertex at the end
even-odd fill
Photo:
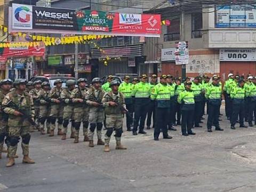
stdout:
POLYGON ((256 61, 256 49, 220 49, 220 61, 256 61))

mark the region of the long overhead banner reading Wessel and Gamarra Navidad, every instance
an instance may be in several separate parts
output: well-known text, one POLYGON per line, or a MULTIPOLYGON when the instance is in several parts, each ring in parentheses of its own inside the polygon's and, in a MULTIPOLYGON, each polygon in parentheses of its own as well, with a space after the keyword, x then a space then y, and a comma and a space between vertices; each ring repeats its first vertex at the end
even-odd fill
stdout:
POLYGON ((57 34, 147 37, 159 37, 161 34, 160 14, 112 13, 13 4, 12 9, 9 9, 9 23, 12 32, 49 33, 51 30, 51 33, 57 34), (31 9, 32 12, 29 12, 31 9), (17 12, 23 20, 17 19, 17 12), (20 24, 18 28, 17 22, 23 25, 20 24))

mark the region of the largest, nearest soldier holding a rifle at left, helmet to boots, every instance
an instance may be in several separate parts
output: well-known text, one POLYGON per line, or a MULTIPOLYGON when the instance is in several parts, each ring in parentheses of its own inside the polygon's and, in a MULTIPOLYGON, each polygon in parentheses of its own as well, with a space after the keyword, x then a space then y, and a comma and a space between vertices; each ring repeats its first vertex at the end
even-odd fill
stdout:
POLYGON ((9 115, 9 161, 7 167, 15 164, 14 157, 17 152, 20 136, 22 138, 21 148, 23 151, 22 163, 35 163, 29 158, 29 120, 34 118, 34 102, 31 95, 25 92, 26 79, 16 79, 15 90, 6 94, 2 103, 3 110, 9 115), (22 111, 22 113, 21 113, 22 111))

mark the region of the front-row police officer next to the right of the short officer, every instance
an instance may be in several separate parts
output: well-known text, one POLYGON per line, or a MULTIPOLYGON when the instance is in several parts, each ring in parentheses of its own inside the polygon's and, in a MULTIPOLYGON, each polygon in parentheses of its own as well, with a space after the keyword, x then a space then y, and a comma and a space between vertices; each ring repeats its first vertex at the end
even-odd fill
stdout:
POLYGON ((223 131, 219 125, 219 106, 221 105, 221 86, 219 85, 219 77, 212 78, 212 83, 205 90, 205 98, 209 103, 209 114, 207 118, 207 131, 212 132, 212 125, 216 131, 223 131))

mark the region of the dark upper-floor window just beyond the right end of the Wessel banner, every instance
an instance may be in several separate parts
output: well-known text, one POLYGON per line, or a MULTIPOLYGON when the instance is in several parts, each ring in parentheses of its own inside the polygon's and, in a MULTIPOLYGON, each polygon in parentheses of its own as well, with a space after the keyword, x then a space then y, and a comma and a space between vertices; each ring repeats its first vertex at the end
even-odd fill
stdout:
POLYGON ((164 41, 178 41, 180 39, 180 18, 171 20, 171 25, 165 26, 164 34, 164 41))

